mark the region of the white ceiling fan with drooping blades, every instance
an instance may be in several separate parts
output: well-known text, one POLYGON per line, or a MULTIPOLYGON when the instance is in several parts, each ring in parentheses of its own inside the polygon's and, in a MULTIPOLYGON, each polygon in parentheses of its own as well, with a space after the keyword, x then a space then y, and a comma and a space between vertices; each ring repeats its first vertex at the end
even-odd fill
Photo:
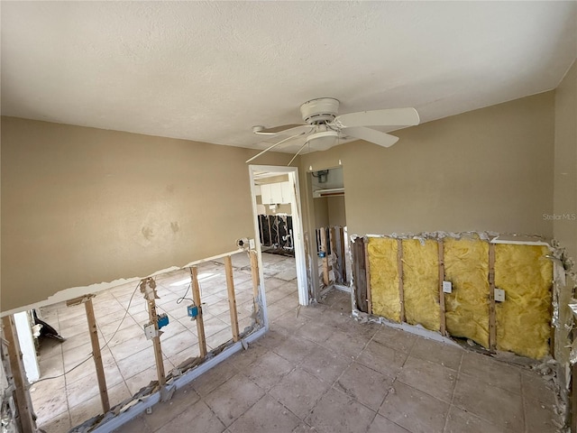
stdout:
POLYGON ((397 143, 398 137, 372 129, 369 126, 413 126, 419 123, 415 108, 392 108, 384 110, 360 111, 346 115, 337 115, 339 101, 334 97, 311 99, 300 106, 300 113, 305 124, 283 124, 272 128, 252 126, 252 132, 259 135, 287 135, 289 137, 272 144, 262 152, 254 155, 246 162, 251 162, 265 152, 269 152, 280 144, 287 143, 298 137, 305 137, 305 143, 290 160, 295 161, 307 145, 315 151, 326 151, 336 144, 353 140, 364 140, 383 147, 397 143))

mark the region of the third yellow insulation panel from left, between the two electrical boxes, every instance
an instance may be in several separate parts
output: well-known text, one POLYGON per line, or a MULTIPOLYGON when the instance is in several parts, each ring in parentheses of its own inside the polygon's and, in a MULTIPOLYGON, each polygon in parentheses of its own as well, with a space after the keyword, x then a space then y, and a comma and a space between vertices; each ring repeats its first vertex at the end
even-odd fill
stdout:
POLYGON ((489 348, 489 244, 479 239, 444 238, 444 280, 447 331, 489 348))

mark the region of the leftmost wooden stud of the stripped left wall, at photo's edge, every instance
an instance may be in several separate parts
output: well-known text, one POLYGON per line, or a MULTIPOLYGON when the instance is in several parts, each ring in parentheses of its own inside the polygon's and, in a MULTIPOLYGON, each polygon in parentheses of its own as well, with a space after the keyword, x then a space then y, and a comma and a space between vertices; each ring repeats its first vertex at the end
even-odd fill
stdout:
POLYGON ((18 408, 18 416, 23 431, 36 431, 36 422, 32 419, 32 404, 28 395, 28 380, 26 379, 20 343, 14 327, 14 317, 12 315, 2 318, 4 325, 4 335, 8 342, 8 359, 10 360, 10 370, 14 377, 14 400, 18 408))

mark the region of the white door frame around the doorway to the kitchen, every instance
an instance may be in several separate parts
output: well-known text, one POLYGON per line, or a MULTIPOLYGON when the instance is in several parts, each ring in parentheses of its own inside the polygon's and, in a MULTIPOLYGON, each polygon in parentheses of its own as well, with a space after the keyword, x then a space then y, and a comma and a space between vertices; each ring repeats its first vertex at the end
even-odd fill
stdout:
POLYGON ((298 303, 307 306, 310 303, 308 297, 308 281, 307 281, 307 263, 305 258, 305 236, 303 230, 303 214, 300 201, 300 187, 298 183, 298 167, 283 167, 277 165, 249 165, 249 176, 251 181, 251 200, 252 200, 252 223, 254 225, 254 239, 255 246, 259 256, 259 272, 261 277, 261 299, 263 299, 264 316, 266 327, 269 327, 269 318, 266 309, 266 298, 264 294, 264 272, 262 270, 262 255, 261 255, 261 236, 259 231, 259 221, 255 194, 255 172, 266 171, 275 173, 275 175, 288 174, 289 182, 292 185, 292 194, 290 198, 290 208, 292 217, 292 235, 295 246, 295 263, 297 268, 298 281, 298 303), (259 242, 256 242, 256 241, 259 242))

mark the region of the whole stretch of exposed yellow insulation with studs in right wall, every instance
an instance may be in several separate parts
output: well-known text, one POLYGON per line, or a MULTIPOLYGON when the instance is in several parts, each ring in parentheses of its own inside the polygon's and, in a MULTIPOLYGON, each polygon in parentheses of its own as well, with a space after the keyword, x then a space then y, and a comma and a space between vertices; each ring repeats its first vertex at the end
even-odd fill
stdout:
POLYGON ((545 258, 549 247, 520 241, 494 245, 495 286, 505 290, 505 300, 495 302, 490 296, 489 259, 495 237, 482 233, 368 236, 372 313, 442 332, 445 321, 450 336, 469 338, 488 349, 497 345, 517 355, 544 358, 552 330, 553 265, 545 258), (438 243, 443 243, 442 251, 438 243), (440 290, 442 263, 444 281, 452 283, 450 293, 440 290))

